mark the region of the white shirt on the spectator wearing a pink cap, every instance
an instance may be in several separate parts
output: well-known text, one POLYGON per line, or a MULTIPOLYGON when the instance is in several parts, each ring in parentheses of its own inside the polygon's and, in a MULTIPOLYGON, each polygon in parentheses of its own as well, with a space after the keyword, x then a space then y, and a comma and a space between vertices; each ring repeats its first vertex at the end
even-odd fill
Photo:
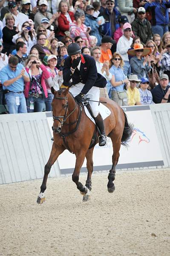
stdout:
POLYGON ((133 38, 130 37, 128 40, 124 35, 122 35, 117 43, 116 52, 118 52, 123 61, 129 61, 127 51, 131 48, 131 44, 133 43, 133 38))

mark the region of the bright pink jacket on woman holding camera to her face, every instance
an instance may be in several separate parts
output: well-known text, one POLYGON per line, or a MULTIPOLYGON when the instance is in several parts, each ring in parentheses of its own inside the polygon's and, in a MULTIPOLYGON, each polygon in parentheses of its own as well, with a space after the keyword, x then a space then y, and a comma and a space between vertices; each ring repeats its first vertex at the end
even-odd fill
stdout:
MULTIPOLYGON (((31 69, 26 67, 26 72, 29 74, 29 76, 32 78, 31 76, 31 69)), ((47 70, 47 67, 44 66, 43 64, 40 65, 40 73, 42 73, 41 76, 41 86, 43 88, 45 97, 48 97, 48 92, 46 89, 46 82, 45 79, 48 79, 50 76, 52 76, 52 74, 47 70)), ((26 98, 29 97, 29 90, 30 90, 30 82, 26 82, 25 83, 25 90, 24 90, 24 95, 26 98)))

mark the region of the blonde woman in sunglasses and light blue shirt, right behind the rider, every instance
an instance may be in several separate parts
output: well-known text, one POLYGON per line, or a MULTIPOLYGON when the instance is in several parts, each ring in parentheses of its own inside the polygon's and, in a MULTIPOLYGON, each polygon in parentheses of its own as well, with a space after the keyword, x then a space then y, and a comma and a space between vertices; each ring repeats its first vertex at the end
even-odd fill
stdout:
MULTIPOLYGON (((127 106, 127 84, 129 80, 123 71, 124 61, 118 52, 114 52, 109 61, 109 72, 112 79, 108 82, 111 87, 111 98, 118 103, 119 106, 127 106)), ((109 92, 108 92, 109 93, 109 92)))

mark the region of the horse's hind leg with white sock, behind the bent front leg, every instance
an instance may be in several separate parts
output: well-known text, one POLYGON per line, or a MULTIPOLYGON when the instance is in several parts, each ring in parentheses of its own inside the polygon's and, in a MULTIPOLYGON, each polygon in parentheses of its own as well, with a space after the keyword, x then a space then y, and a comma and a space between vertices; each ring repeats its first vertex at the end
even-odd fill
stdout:
POLYGON ((92 155, 93 155, 93 149, 91 148, 86 152, 86 160, 87 160, 87 170, 88 170, 88 175, 87 175, 87 180, 86 180, 86 187, 88 189, 88 192, 86 193, 86 195, 83 196, 83 201, 88 201, 90 198, 90 191, 92 190, 92 172, 93 172, 93 160, 92 160, 92 155))

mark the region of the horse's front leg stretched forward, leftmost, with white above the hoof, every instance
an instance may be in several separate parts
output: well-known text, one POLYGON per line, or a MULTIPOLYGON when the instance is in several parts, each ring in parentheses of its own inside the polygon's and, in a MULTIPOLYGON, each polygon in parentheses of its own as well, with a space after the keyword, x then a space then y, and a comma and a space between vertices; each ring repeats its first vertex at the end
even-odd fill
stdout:
POLYGON ((55 143, 53 143, 52 151, 51 151, 49 160, 48 160, 48 162, 46 163, 46 165, 44 167, 43 183, 40 186, 40 194, 38 195, 38 198, 37 198, 37 203, 38 204, 42 204, 45 201, 44 191, 46 190, 46 182, 47 182, 47 178, 48 178, 49 172, 51 170, 52 165, 55 163, 55 161, 57 160, 58 156, 63 151, 64 151, 63 147, 58 147, 55 143))

